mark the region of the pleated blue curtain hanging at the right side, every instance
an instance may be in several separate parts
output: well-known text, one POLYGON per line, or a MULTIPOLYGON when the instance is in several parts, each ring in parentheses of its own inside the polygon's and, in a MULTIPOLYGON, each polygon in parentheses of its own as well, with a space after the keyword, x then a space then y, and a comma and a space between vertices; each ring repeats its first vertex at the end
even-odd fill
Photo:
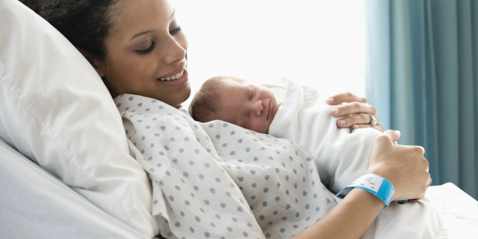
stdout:
POLYGON ((366 0, 366 95, 433 185, 478 199, 478 0, 366 0))

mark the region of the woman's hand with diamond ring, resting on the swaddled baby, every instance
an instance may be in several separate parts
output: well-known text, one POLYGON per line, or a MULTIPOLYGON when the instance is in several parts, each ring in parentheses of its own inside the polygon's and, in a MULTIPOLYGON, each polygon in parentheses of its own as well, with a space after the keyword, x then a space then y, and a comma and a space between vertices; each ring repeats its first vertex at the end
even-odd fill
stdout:
POLYGON ((327 99, 327 104, 329 105, 339 105, 342 103, 349 104, 337 106, 331 111, 331 114, 334 117, 348 116, 344 119, 337 120, 337 126, 341 128, 350 127, 351 129, 372 127, 381 132, 384 131, 383 127, 380 125, 380 120, 375 115, 375 107, 368 105, 365 98, 358 97, 350 92, 345 92, 327 99), (367 114, 370 114, 377 120, 375 126, 370 124, 371 119, 367 114))

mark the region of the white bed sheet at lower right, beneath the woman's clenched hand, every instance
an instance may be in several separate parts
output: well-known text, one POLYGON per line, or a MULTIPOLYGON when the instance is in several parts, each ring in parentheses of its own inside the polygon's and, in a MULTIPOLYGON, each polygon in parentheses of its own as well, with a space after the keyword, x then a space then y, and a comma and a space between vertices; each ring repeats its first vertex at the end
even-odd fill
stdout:
POLYGON ((477 200, 446 183, 430 187, 423 199, 391 203, 362 239, 462 239, 477 232, 477 200))

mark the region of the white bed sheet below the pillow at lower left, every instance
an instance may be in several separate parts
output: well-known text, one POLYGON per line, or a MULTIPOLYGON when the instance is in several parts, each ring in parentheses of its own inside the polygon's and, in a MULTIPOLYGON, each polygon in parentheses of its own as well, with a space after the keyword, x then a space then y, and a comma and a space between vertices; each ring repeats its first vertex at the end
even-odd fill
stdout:
POLYGON ((0 138, 0 238, 145 239, 0 138))

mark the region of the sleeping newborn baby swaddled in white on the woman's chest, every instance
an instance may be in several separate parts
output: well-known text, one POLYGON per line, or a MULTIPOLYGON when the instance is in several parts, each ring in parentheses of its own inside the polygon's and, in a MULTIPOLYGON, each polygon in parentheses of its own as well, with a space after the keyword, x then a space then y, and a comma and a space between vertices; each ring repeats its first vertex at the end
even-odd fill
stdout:
POLYGON ((197 121, 220 119, 298 143, 312 155, 321 181, 332 192, 363 175, 380 131, 339 128, 330 115, 334 106, 327 105, 317 90, 287 79, 278 86, 283 99, 269 87, 236 77, 213 77, 196 93, 189 112, 197 121))

